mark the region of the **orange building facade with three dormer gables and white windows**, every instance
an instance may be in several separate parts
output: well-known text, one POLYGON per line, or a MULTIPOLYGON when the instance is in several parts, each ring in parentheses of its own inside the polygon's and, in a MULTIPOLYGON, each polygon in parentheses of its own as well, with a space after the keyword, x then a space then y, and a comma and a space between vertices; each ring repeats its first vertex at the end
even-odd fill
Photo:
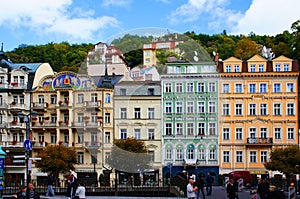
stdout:
POLYGON ((220 174, 249 170, 268 174, 275 148, 299 144, 297 61, 255 55, 218 63, 220 174))

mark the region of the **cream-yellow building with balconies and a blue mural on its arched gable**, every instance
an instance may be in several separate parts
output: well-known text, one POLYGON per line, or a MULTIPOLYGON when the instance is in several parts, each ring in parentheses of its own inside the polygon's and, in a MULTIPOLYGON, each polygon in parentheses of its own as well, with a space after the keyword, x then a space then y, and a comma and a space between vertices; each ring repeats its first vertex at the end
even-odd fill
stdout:
MULTIPOLYGON (((31 121, 33 157, 48 145, 63 144, 77 152, 78 178, 104 173, 113 142, 112 89, 100 88, 89 76, 61 72, 41 79, 31 103, 31 111, 38 113, 31 121)), ((33 168, 33 176, 39 175, 33 168)))

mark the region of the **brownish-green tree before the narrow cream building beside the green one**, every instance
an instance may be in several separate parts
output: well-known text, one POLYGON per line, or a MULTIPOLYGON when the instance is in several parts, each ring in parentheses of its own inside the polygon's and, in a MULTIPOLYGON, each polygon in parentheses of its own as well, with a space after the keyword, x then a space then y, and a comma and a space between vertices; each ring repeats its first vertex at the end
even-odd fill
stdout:
POLYGON ((150 164, 150 156, 147 152, 147 147, 141 140, 134 138, 115 140, 108 164, 118 171, 143 172, 150 164))

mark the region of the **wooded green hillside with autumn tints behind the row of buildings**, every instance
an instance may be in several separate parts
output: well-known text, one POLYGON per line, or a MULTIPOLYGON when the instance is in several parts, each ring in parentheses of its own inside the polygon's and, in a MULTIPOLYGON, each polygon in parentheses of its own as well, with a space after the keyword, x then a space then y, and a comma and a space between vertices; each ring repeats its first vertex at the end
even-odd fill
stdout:
MULTIPOLYGON (((175 33, 154 38, 152 36, 124 35, 122 38, 112 41, 125 55, 130 67, 141 65, 143 61, 143 43, 152 41, 167 41, 170 39, 185 40, 186 45, 182 49, 194 53, 195 44, 198 45, 197 52, 203 52, 203 60, 213 59, 213 52, 219 54, 219 58, 227 59, 235 56, 246 60, 255 54, 261 54, 263 46, 271 48, 276 57, 285 55, 292 59, 300 60, 300 20, 291 25, 291 30, 285 30, 275 36, 256 35, 227 35, 226 31, 220 34, 207 35, 186 32, 178 35, 175 33), (200 47, 199 47, 200 46, 200 47), (204 51, 207 51, 204 53, 204 51)), ((27 46, 21 45, 11 52, 6 52, 8 58, 14 63, 37 63, 48 62, 55 71, 71 70, 78 72, 84 65, 87 52, 94 48, 93 44, 72 44, 67 42, 48 43, 46 45, 27 46)), ((172 52, 158 52, 158 60, 163 64, 166 56, 173 55, 172 52)), ((185 54, 188 56, 188 53, 185 54)), ((182 57, 178 57, 182 58, 182 57)), ((188 59, 188 57, 184 57, 188 59)))

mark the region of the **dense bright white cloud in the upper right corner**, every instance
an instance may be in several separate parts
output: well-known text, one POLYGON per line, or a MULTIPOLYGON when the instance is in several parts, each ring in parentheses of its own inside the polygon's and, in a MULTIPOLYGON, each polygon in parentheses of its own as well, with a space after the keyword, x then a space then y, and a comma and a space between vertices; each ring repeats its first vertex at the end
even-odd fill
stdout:
POLYGON ((300 19, 299 7, 299 0, 253 0, 230 33, 276 35, 290 30, 292 23, 300 19))

